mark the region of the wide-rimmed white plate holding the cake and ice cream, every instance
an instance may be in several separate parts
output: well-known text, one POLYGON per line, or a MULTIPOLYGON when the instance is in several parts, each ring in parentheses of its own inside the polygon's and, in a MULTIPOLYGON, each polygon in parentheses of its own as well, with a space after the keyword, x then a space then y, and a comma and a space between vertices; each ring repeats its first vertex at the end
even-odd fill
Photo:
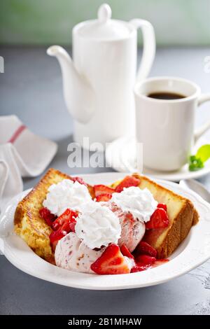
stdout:
MULTIPOLYGON (((91 184, 107 184, 122 178, 120 173, 81 176, 91 184)), ((182 188, 176 183, 168 181, 158 182, 192 200, 200 214, 200 223, 190 230, 188 237, 170 257, 170 261, 160 267, 133 274, 100 276, 97 274, 71 272, 45 262, 45 260, 39 258, 38 255, 31 251, 25 241, 13 232, 15 207, 29 190, 13 198, 1 215, 0 233, 1 237, 3 237, 3 253, 13 265, 32 276, 74 288, 92 290, 139 288, 163 283, 176 278, 176 276, 185 274, 210 258, 210 205, 202 200, 199 195, 191 190, 182 188)))

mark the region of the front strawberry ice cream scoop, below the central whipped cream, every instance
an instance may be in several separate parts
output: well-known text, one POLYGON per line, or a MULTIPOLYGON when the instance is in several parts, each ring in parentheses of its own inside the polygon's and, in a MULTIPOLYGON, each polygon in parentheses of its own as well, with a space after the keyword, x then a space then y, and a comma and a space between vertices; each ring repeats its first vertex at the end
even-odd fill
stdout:
POLYGON ((55 263, 57 266, 71 271, 94 273, 90 265, 102 255, 99 251, 85 246, 84 242, 74 232, 59 240, 55 248, 55 263))

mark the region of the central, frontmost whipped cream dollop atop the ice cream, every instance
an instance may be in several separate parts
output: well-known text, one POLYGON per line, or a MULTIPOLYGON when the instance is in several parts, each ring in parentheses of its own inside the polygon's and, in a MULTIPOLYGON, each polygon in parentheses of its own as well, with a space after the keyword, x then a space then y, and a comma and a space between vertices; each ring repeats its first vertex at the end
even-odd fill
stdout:
POLYGON ((118 216, 99 202, 87 202, 80 209, 75 232, 91 249, 117 244, 121 235, 118 216))

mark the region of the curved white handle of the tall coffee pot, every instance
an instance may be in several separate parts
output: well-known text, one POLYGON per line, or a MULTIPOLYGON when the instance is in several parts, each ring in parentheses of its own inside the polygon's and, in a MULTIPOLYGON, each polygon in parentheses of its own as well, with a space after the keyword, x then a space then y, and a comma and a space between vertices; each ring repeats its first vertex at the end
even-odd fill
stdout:
POLYGON ((148 76, 148 73, 150 73, 151 67, 153 65, 156 48, 155 31, 153 29, 153 25, 151 25, 151 23, 147 20, 134 18, 134 20, 130 20, 130 23, 134 25, 136 29, 141 28, 144 41, 143 55, 137 73, 137 82, 139 82, 139 80, 143 80, 148 76))

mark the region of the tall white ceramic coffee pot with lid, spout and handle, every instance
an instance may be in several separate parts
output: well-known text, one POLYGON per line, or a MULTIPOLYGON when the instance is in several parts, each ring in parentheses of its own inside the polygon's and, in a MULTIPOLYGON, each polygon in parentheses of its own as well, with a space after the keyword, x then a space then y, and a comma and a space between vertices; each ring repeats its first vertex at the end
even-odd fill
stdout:
POLYGON ((73 61, 64 48, 52 45, 62 69, 64 98, 75 120, 74 140, 83 146, 105 144, 134 132, 134 94, 137 80, 146 78, 155 57, 155 34, 146 20, 111 20, 108 4, 99 7, 97 20, 73 27, 73 61), (137 29, 144 50, 137 72, 137 29))

